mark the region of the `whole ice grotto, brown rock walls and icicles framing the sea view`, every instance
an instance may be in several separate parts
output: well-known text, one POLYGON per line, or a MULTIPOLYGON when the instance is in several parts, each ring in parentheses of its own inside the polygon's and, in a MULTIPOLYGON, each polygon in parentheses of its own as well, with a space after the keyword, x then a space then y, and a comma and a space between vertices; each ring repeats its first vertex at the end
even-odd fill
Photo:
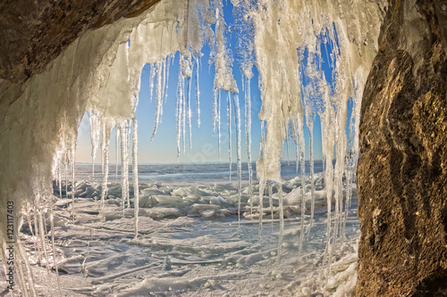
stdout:
MULTIPOLYGON (((250 292, 226 292, 215 285, 218 278, 207 276, 190 276, 188 285, 175 281, 163 285, 162 280, 154 285, 153 279, 143 277, 134 280, 132 286, 118 284, 112 291, 105 288, 106 282, 101 283, 101 289, 89 295, 447 294, 447 2, 228 2, 233 7, 232 26, 225 23, 223 6, 228 3, 222 0, 19 0, 0 4, 0 241, 2 277, 6 277, 1 280, 2 294, 39 293, 40 285, 34 281, 38 276, 32 270, 35 264, 29 249, 21 243, 20 227, 26 221, 34 230, 39 257, 45 258, 47 264, 55 255, 53 181, 60 179, 63 164, 68 165, 65 170, 74 171, 77 131, 86 111, 92 145, 102 152, 103 181, 97 204, 104 206, 107 198, 108 139, 112 128, 119 130, 122 167, 138 167, 135 112, 141 70, 148 63, 156 99, 156 124, 162 119, 167 79, 170 75, 178 77, 173 99, 177 127, 173 136, 178 153, 187 149, 185 139, 193 120, 191 103, 197 106, 194 112, 200 114, 200 101, 213 102, 210 128, 220 139, 221 103, 226 99, 226 111, 232 117, 237 139, 239 184, 235 187, 234 206, 239 217, 243 204, 241 171, 252 170, 250 166, 242 168, 241 146, 251 145, 251 123, 242 119, 251 118, 247 90, 252 70, 257 69, 262 100, 258 114, 262 141, 259 155, 253 157, 257 159, 260 195, 258 217, 262 220, 263 208, 268 207, 263 205, 265 190, 271 192, 274 185, 279 231, 277 250, 271 253, 279 259, 287 233, 281 157, 283 143, 292 138, 298 152, 301 191, 295 191, 301 204, 293 231, 298 236, 294 248, 299 251, 298 257, 307 257, 301 250, 306 242, 305 230, 313 230, 318 191, 326 208, 321 236, 325 248, 319 263, 323 276, 313 286, 297 276, 296 280, 274 283, 285 284, 282 291, 257 286, 250 292), (229 50, 229 30, 236 36, 235 53, 229 50), (210 98, 200 96, 198 87, 191 86, 193 81, 198 84, 205 45, 211 54, 204 62, 214 67, 210 98), (179 71, 169 74, 176 53, 180 54, 179 71), (330 78, 319 67, 323 60, 332 69, 330 78), (233 76, 233 63, 240 68, 241 81, 233 76), (240 97, 242 88, 246 91, 240 97), (245 111, 240 111, 240 100, 245 111), (304 148, 304 128, 310 131, 311 138, 316 114, 321 120, 324 159, 321 189, 315 186, 312 149, 305 156, 304 148), (350 136, 345 133, 347 125, 350 136), (304 170, 305 158, 310 160, 310 179, 304 170), (340 260, 336 256, 343 248, 352 193, 358 194, 358 252, 354 260, 342 263, 346 267, 340 268, 342 265, 333 264, 340 260), (11 270, 14 290, 7 288, 11 270), (156 291, 156 286, 163 292, 156 291), (198 292, 190 290, 194 286, 198 292)), ((251 160, 247 151, 247 160, 251 160)), ((254 181, 249 176, 249 195, 254 195, 254 181)), ((72 178, 74 185, 74 173, 72 178)), ((144 224, 144 216, 139 215, 138 175, 130 178, 128 170, 124 170, 121 184, 122 205, 127 202, 130 206, 131 200, 133 203, 128 216, 137 241, 144 224)), ((73 205, 74 194, 70 198, 73 205)), ((254 256, 259 255, 249 260, 254 256)), ((166 260, 164 265, 176 263, 181 264, 166 260)), ((241 261, 238 263, 243 266, 241 261)), ((58 273, 57 266, 55 270, 58 273)), ((298 275, 299 269, 294 272, 298 275)), ((232 276, 228 273, 225 277, 232 276)), ((275 273, 271 277, 283 276, 275 273)))

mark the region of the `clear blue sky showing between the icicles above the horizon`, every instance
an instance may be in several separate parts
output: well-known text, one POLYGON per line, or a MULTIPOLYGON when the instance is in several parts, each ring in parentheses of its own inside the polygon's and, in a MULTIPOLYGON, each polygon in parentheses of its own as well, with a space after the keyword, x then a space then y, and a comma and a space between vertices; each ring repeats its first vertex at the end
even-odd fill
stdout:
MULTIPOLYGON (((227 24, 232 24, 232 4, 226 2, 224 9, 224 18, 227 24)), ((236 39, 234 34, 228 37, 230 40, 230 46, 234 53, 234 45, 236 39)), ((136 115, 139 122, 139 162, 140 163, 171 163, 171 162, 215 162, 218 161, 217 150, 217 134, 213 134, 212 125, 212 91, 213 91, 213 79, 214 79, 214 65, 208 67, 209 48, 205 46, 202 49, 204 54, 201 60, 202 67, 199 70, 199 90, 200 90, 200 128, 197 123, 197 111, 195 102, 195 82, 194 78, 191 81, 191 111, 192 111, 192 149, 189 148, 189 137, 186 139, 186 152, 181 153, 180 159, 177 158, 176 147, 176 126, 175 126, 175 103, 176 103, 176 88, 178 77, 178 63, 179 54, 175 54, 175 59, 170 68, 169 88, 167 102, 164 104, 163 117, 161 123, 157 128, 156 137, 151 141, 152 131, 154 129, 155 114, 156 114, 156 100, 155 95, 152 102, 149 100, 149 77, 150 68, 146 65, 141 72, 141 87, 139 92, 139 107, 136 115)), ((261 108, 260 92, 258 89, 258 79, 256 66, 253 70, 254 77, 251 79, 251 101, 252 101, 252 161, 257 160, 259 153, 259 144, 261 141, 260 122, 257 114, 261 108)), ((236 62, 233 63, 234 78, 238 83, 240 90, 240 115, 241 115, 241 127, 244 127, 244 92, 241 86, 241 75, 239 66, 236 62)), ((155 93, 155 91, 154 91, 155 93)), ((222 115, 221 115, 221 148, 222 159, 221 161, 228 161, 228 129, 227 129, 227 116, 226 116, 226 95, 222 94, 222 115)), ((232 120, 232 161, 236 161, 236 139, 235 139, 235 125, 232 120)), ((91 162, 91 144, 89 137, 89 118, 87 114, 80 124, 78 136, 78 148, 76 161, 78 162, 91 162)), ((188 135, 188 132, 187 132, 188 135)), ((305 128, 304 135, 306 137, 306 159, 308 160, 308 129, 305 128)), ((247 160, 247 154, 245 149, 245 131, 241 131, 241 154, 242 160, 247 160)), ((114 163, 115 160, 115 140, 114 131, 111 137, 110 143, 110 162, 114 163)), ((295 149, 293 139, 290 144, 290 159, 295 159, 295 149)), ((320 120, 316 115, 316 122, 314 123, 314 159, 320 160, 322 158, 321 153, 321 128, 320 120)), ((288 159, 287 145, 283 146, 283 160, 288 159)), ((96 162, 100 162, 100 152, 97 152, 96 162)))

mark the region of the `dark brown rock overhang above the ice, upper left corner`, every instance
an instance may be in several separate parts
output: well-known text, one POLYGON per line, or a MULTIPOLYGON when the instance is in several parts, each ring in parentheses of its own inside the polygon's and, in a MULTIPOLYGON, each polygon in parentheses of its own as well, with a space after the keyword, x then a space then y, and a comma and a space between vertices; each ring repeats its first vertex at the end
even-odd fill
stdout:
POLYGON ((87 29, 137 16, 158 1, 1 1, 0 78, 22 83, 87 29))

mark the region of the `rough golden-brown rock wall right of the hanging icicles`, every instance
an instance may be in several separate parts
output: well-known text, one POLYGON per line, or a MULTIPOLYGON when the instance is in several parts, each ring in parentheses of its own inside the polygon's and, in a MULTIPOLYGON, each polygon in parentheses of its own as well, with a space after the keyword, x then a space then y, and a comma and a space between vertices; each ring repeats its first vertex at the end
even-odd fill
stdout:
POLYGON ((447 296, 446 9, 396 1, 367 79, 357 296, 447 296))

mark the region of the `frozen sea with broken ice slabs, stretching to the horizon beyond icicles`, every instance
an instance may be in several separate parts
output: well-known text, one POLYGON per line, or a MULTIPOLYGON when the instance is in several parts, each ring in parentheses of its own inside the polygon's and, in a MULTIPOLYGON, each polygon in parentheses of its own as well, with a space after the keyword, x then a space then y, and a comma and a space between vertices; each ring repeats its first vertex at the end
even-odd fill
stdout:
MULTIPOLYGON (((265 194, 260 225, 256 172, 251 209, 246 163, 240 220, 235 164, 231 175, 228 163, 139 165, 137 239, 131 177, 131 208, 123 210, 120 172, 115 175, 114 165, 110 166, 109 195, 101 209, 101 166, 96 165, 92 177, 91 165, 77 165, 74 221, 71 185, 65 192, 63 181, 61 194, 56 182, 54 185, 55 254, 62 295, 350 296, 357 277, 357 195, 354 193, 346 220, 345 239, 332 253, 328 274, 321 161, 316 161, 315 170, 316 215, 308 232, 307 164, 306 240, 299 254, 301 183, 294 162, 283 162, 284 231, 278 258, 278 193, 274 187, 272 205, 265 194)), ((38 295, 59 296, 54 265, 46 272, 46 259, 36 252, 26 219, 22 232, 38 295)), ((53 263, 50 246, 47 243, 53 263)), ((0 291, 2 287, 0 284, 0 291)))

